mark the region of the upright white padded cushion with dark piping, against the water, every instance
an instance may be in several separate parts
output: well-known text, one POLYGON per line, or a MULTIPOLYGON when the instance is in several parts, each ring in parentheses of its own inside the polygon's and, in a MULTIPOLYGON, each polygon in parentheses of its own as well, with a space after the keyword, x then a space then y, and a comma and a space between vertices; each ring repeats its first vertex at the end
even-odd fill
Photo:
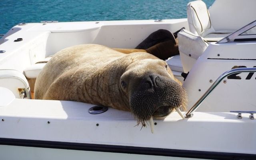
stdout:
POLYGON ((211 21, 206 4, 202 0, 189 2, 187 5, 189 30, 194 34, 202 34, 211 27, 211 21))

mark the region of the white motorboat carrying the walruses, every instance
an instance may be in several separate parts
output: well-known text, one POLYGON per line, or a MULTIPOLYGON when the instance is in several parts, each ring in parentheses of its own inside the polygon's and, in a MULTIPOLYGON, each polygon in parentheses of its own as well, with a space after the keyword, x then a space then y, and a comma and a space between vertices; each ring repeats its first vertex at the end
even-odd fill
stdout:
POLYGON ((205 9, 196 0, 182 19, 14 26, 0 39, 0 159, 255 160, 256 2, 242 2, 216 0, 205 9), (37 62, 63 48, 135 48, 156 30, 183 27, 180 55, 166 61, 187 90, 185 119, 173 112, 154 120, 152 134, 150 127, 136 126, 130 112, 32 99, 44 66, 37 62))

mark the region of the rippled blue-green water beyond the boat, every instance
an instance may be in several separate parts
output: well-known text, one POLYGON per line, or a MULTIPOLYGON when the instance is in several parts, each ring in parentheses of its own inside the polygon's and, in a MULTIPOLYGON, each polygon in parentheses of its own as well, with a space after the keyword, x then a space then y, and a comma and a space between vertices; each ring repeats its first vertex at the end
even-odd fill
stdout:
MULTIPOLYGON (((21 22, 186 18, 192 0, 0 0, 0 34, 21 22)), ((209 7, 214 0, 204 0, 209 7)))

